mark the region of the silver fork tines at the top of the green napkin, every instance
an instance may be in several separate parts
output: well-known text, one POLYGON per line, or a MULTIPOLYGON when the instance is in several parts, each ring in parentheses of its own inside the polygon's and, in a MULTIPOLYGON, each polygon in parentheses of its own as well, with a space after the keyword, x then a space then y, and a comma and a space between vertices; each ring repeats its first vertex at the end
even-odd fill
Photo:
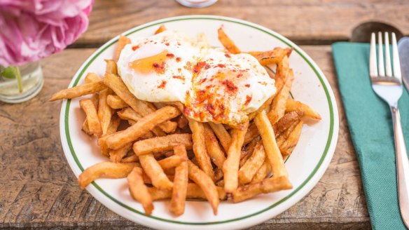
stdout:
POLYGON ((378 53, 376 55, 375 33, 372 33, 370 38, 370 57, 369 57, 369 72, 370 78, 375 83, 383 82, 396 84, 401 83, 401 65, 399 63, 398 46, 396 44, 396 35, 392 33, 392 58, 393 58, 393 74, 391 67, 391 56, 389 51, 389 34, 384 33, 384 50, 382 44, 382 32, 377 33, 378 36, 378 53), (378 60, 376 58, 378 56, 378 60), (385 60, 385 65, 384 65, 385 60), (377 65, 378 62, 378 65, 377 65))

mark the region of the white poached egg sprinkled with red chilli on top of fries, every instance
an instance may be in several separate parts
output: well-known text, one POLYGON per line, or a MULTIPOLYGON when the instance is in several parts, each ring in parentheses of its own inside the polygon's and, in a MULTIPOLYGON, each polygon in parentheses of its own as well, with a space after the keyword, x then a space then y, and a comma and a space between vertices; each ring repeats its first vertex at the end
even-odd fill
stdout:
POLYGON ((276 92, 275 80, 255 57, 181 32, 134 39, 120 53, 118 74, 139 100, 181 102, 190 119, 232 126, 248 121, 276 92))

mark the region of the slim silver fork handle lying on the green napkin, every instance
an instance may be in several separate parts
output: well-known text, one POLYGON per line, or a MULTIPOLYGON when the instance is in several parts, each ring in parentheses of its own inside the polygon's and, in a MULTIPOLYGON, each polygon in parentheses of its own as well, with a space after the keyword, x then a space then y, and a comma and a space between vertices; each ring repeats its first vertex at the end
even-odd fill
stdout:
POLYGON ((398 181, 399 209, 405 226, 409 228, 409 161, 406 154, 405 140, 401 125, 401 114, 398 106, 391 106, 394 122, 394 137, 396 149, 396 172, 398 181))

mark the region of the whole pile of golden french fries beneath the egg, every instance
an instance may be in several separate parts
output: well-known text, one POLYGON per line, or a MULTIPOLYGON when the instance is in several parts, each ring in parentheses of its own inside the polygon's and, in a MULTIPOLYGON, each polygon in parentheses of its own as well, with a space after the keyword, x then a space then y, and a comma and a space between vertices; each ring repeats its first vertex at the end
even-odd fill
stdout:
MULTIPOLYGON (((162 25, 157 33, 165 30, 162 25)), ((228 52, 241 52, 223 27, 218 32, 228 52)), ((216 215, 220 201, 237 203, 292 188, 284 161, 296 147, 305 119, 321 117, 289 97, 291 49, 249 52, 261 65, 277 65, 271 75, 277 93, 250 114, 250 121, 232 128, 188 119, 181 113, 181 103, 134 97, 116 67, 127 43, 130 39, 120 36, 113 60, 106 60, 103 79, 89 73, 83 85, 61 90, 50 99, 92 95, 80 100, 86 114, 82 130, 97 137, 101 154, 109 161, 84 170, 78 178, 81 189, 98 178, 126 177, 131 196, 146 215, 151 215, 153 201, 160 199, 170 199, 174 215, 183 214, 186 199, 207 200, 216 215)))

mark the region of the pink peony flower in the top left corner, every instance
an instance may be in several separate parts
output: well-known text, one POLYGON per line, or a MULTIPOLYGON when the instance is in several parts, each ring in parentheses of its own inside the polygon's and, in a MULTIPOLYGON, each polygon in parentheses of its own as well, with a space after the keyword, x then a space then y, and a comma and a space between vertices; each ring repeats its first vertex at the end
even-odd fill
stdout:
POLYGON ((0 65, 24 65, 73 43, 94 0, 0 0, 0 65))

